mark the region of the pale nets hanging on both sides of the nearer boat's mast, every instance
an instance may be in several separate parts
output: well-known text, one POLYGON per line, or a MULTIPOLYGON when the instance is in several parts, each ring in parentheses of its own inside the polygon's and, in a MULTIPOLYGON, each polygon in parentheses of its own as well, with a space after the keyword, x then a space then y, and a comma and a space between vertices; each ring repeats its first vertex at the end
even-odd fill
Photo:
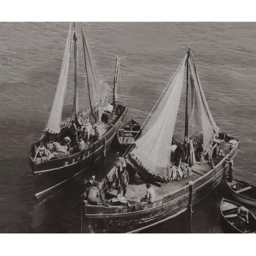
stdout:
MULTIPOLYGON (((127 161, 135 170, 162 182, 168 182, 167 170, 170 164, 170 152, 175 123, 181 99, 185 66, 187 66, 187 115, 188 139, 203 134, 203 150, 209 146, 217 127, 210 113, 201 82, 196 70, 193 55, 183 58, 173 78, 167 84, 158 102, 151 111, 149 120, 143 128, 144 135, 135 142, 135 148, 127 156, 127 161), (155 108, 156 107, 156 108, 155 108), (198 113, 198 116, 196 115, 198 113), (199 126, 195 125, 197 122, 199 126), (156 175, 156 173, 160 174, 156 175)), ((189 142, 192 146, 193 143, 189 142)), ((181 143, 182 145, 182 143, 181 143)))

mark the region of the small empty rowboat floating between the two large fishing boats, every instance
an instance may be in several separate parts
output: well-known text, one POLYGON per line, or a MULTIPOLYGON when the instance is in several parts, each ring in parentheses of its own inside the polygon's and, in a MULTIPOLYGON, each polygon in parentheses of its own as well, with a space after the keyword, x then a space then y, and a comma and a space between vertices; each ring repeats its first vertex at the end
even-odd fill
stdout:
POLYGON ((117 140, 122 150, 127 150, 141 135, 141 127, 133 119, 124 123, 117 131, 117 140))

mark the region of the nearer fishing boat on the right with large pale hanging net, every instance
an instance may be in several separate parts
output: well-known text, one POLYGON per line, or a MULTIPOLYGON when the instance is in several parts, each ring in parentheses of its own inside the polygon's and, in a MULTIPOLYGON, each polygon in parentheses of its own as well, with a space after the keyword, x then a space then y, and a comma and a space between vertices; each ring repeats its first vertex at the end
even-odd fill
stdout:
POLYGON ((103 187, 108 184, 105 193, 108 202, 91 205, 88 200, 82 201, 82 232, 139 232, 186 210, 191 220, 193 205, 209 195, 224 178, 229 167, 227 157, 236 160, 239 153, 240 141, 221 131, 210 113, 190 49, 142 125, 142 133, 133 150, 124 156, 130 177, 127 202, 123 197, 120 200, 115 186, 110 184, 115 180, 112 169, 102 183, 103 187), (183 142, 174 137, 174 129, 184 80, 183 142), (236 143, 229 146, 230 140, 236 143), (188 151, 184 148, 189 148, 186 156, 183 153, 188 151), (178 159, 175 165, 173 151, 174 159, 178 159), (156 194, 150 202, 143 200, 146 182, 152 184, 156 194))

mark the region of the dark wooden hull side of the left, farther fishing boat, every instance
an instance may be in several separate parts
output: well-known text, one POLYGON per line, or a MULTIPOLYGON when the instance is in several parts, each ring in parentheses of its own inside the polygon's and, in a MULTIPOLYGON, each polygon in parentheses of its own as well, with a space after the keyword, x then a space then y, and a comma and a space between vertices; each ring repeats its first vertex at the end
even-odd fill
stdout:
POLYGON ((36 198, 41 197, 58 185, 67 182, 86 169, 89 164, 100 159, 103 156, 104 147, 105 150, 109 149, 118 128, 125 121, 127 114, 128 108, 123 106, 111 129, 99 141, 92 144, 83 152, 39 164, 31 161, 36 198))

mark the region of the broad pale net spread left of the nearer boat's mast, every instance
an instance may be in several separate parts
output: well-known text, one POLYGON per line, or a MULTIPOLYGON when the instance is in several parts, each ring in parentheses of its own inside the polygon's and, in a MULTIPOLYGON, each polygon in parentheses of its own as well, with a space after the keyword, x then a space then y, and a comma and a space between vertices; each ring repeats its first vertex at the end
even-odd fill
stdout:
POLYGON ((184 79, 186 56, 173 79, 167 84, 155 112, 144 127, 144 135, 136 141, 131 152, 143 165, 155 172, 166 175, 170 161, 170 148, 176 123, 184 79))

